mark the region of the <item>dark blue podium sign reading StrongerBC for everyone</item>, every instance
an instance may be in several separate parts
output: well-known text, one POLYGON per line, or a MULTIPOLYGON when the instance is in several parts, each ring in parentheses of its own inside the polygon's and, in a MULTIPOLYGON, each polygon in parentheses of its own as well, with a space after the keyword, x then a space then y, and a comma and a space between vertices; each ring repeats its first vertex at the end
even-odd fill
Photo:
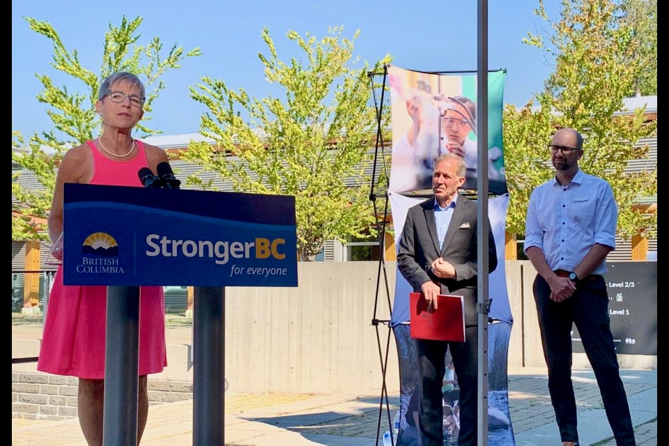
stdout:
POLYGON ((298 286, 295 197, 66 184, 66 285, 298 286))

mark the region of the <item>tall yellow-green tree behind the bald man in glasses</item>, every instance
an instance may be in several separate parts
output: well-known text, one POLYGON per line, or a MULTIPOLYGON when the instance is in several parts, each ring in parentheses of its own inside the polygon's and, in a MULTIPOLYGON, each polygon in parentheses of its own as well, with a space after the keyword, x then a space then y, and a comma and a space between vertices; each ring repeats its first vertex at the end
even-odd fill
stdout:
POLYGON ((639 42, 621 22, 620 5, 613 0, 563 0, 561 17, 553 19, 539 1, 536 13, 552 32, 530 33, 525 43, 543 50, 555 69, 537 95, 539 107, 530 102, 522 109, 505 109, 505 169, 511 192, 507 230, 525 232, 530 193, 554 174, 546 145, 556 128, 570 127, 585 139, 581 169, 613 187, 620 206, 618 235, 655 234, 657 215, 633 204, 656 194, 657 169, 626 171, 630 160, 647 157, 647 146, 635 143, 656 134, 656 121, 645 122, 643 109, 618 113, 643 69, 639 42))

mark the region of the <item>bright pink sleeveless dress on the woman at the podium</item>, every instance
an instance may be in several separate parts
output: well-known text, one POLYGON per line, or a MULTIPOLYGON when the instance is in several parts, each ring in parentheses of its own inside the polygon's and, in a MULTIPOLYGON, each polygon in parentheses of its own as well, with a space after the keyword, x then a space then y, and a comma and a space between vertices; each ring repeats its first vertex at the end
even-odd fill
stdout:
MULTIPOLYGON (((88 141, 93 153, 91 184, 141 187, 137 171, 147 166, 144 144, 132 160, 109 160, 88 141)), ((37 369, 56 375, 105 378, 106 286, 65 286, 59 266, 49 295, 37 369)), ((139 293, 139 374, 155 374, 167 365, 162 286, 142 286, 139 293)))

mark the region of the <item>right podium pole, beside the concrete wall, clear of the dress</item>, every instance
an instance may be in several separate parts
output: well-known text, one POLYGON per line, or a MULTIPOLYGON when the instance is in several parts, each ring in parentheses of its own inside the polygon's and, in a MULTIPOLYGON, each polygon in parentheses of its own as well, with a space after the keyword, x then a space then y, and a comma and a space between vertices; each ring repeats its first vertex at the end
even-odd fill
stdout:
POLYGON ((196 286, 193 312, 193 446, 224 445, 225 289, 196 286))

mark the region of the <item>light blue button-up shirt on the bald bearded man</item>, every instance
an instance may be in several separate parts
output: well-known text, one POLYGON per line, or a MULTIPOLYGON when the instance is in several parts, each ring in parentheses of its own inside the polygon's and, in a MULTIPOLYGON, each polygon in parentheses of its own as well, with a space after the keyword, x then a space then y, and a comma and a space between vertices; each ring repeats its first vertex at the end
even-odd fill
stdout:
MULTIPOLYGON (((615 249, 618 207, 611 186, 578 169, 571 183, 557 179, 530 196, 525 221, 525 252, 538 247, 551 270, 573 271, 595 243, 615 249)), ((606 272, 602 262, 592 274, 606 272)))

